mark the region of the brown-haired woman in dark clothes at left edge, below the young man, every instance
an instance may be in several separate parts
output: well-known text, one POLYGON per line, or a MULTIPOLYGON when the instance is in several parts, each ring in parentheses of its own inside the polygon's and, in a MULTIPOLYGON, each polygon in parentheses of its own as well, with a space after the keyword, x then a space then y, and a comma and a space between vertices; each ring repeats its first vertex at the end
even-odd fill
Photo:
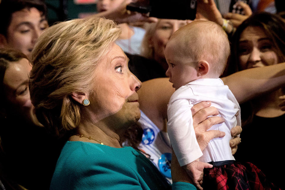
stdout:
POLYGON ((48 189, 61 145, 48 135, 34 113, 29 92, 31 68, 23 53, 0 49, 0 137, 4 155, 0 175, 27 189, 48 189))

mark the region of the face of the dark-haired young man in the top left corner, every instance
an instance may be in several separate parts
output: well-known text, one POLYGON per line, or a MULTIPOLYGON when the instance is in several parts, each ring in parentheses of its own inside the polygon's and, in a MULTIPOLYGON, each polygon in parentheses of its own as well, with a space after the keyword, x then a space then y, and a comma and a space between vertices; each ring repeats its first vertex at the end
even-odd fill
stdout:
POLYGON ((45 16, 41 15, 42 13, 34 7, 12 13, 2 46, 18 50, 30 57, 39 35, 48 27, 45 16))

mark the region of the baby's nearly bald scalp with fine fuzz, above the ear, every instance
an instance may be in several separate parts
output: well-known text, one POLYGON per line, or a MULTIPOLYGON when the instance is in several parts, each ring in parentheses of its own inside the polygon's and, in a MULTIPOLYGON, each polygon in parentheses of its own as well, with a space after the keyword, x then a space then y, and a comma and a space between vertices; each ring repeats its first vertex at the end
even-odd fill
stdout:
POLYGON ((205 60, 210 64, 209 74, 219 77, 230 54, 227 34, 211 21, 194 21, 176 31, 167 46, 189 62, 205 60))

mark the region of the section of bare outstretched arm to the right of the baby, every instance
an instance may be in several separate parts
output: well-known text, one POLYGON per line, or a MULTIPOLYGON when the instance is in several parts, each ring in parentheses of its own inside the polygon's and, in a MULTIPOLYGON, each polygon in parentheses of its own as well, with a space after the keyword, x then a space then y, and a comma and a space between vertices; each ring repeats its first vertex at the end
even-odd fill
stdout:
POLYGON ((246 69, 221 78, 235 95, 238 103, 246 102, 259 94, 273 91, 285 84, 285 63, 246 69))

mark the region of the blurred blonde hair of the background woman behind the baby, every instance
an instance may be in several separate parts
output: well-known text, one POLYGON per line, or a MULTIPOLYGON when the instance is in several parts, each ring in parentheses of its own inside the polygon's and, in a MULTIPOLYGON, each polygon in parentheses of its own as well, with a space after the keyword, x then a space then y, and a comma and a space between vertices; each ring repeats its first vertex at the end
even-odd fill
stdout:
POLYGON ((145 36, 143 37, 142 44, 141 44, 141 56, 153 59, 153 47, 150 46, 149 41, 153 37, 154 31, 156 29, 156 23, 150 23, 147 26, 147 29, 145 31, 145 36))

